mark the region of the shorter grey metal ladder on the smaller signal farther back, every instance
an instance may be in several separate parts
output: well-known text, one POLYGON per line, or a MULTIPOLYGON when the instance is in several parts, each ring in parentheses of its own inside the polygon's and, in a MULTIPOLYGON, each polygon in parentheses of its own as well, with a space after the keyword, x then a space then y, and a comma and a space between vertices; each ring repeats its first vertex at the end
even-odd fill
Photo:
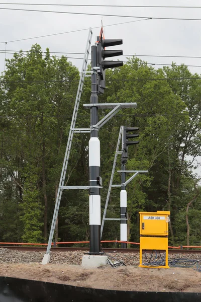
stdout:
POLYGON ((115 159, 114 159, 114 163, 113 163, 113 169, 112 169, 110 184, 109 184, 109 188, 108 188, 108 195, 107 195, 107 199, 106 199, 106 205, 105 205, 105 209, 104 209, 102 224, 101 224, 101 227, 100 227, 100 239, 102 238, 105 220, 120 220, 121 219, 121 218, 106 218, 106 212, 107 212, 107 209, 108 209, 108 203, 109 203, 109 199, 110 199, 111 189, 112 189, 112 187, 116 186, 116 185, 113 185, 113 178, 114 178, 114 174, 115 174, 115 168, 116 168, 116 163, 117 163, 117 156, 118 156, 118 154, 122 154, 122 151, 119 151, 119 145, 120 145, 120 140, 121 140, 121 137, 122 137, 122 130, 123 130, 122 128, 123 127, 121 126, 120 127, 118 141, 117 141, 117 147, 116 147, 116 152, 115 152, 115 159))

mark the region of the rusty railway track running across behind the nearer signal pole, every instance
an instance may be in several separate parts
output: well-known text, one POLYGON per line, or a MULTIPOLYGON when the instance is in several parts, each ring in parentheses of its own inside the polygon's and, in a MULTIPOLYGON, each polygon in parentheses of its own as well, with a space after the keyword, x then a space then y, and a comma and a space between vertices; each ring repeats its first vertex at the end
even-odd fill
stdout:
MULTIPOLYGON (((17 246, 0 246, 0 248, 6 248, 10 250, 17 250, 17 251, 29 251, 29 252, 46 252, 46 247, 17 247, 17 246)), ((139 249, 114 249, 114 248, 104 248, 104 251, 106 253, 112 253, 114 251, 118 253, 134 253, 137 254, 139 253, 139 249)), ((86 251, 88 252, 88 248, 78 248, 78 247, 52 247, 51 252, 56 253, 56 252, 73 252, 73 251, 86 251)), ((149 251, 147 251, 149 253, 149 251)), ((151 251, 150 251, 151 252, 151 251)), ((200 250, 184 250, 184 249, 169 249, 168 251, 169 254, 201 254, 201 249, 200 250)))

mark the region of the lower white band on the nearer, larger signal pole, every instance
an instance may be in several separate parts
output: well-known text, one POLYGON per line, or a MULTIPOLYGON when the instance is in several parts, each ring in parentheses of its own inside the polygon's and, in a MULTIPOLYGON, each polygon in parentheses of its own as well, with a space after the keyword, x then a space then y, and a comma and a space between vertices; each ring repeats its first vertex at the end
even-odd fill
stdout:
POLYGON ((89 196, 89 224, 100 225, 100 195, 89 196))

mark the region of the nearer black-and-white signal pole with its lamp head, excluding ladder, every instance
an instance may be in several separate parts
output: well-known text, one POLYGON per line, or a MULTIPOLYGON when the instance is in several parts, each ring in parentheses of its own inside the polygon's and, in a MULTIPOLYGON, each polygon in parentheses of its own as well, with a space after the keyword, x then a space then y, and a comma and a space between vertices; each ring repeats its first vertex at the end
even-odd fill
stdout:
POLYGON ((97 37, 96 45, 91 46, 91 97, 90 126, 91 134, 88 144, 89 152, 89 254, 100 254, 100 141, 98 139, 98 94, 104 94, 105 69, 123 65, 122 61, 105 61, 106 57, 122 55, 122 50, 105 50, 105 47, 122 44, 122 39, 104 39, 103 27, 97 37))

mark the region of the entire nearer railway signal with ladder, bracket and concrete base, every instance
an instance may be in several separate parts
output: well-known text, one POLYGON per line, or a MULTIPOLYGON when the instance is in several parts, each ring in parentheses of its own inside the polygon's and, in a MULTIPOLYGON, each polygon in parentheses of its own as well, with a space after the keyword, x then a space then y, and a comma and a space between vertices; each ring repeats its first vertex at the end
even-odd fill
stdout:
MULTIPOLYGON (((63 190, 88 190, 89 189, 89 227, 90 227, 90 248, 89 255, 83 256, 82 265, 99 266, 104 264, 103 260, 93 261, 93 257, 100 255, 105 258, 100 252, 100 189, 102 188, 102 178, 100 177, 100 142, 98 139, 98 130, 105 125, 119 110, 123 108, 137 108, 136 103, 98 103, 98 95, 103 94, 106 88, 105 69, 115 68, 123 65, 122 61, 105 61, 106 57, 113 57, 123 54, 122 50, 105 50, 105 47, 122 44, 122 39, 105 39, 103 35, 103 27, 95 45, 91 46, 91 71, 86 71, 87 58, 89 47, 91 44, 91 29, 87 39, 87 46, 83 60, 83 68, 80 75, 80 81, 75 100, 75 106, 69 131, 66 153, 64 156, 63 168, 59 183, 59 190, 55 202, 54 214, 52 218, 50 236, 46 254, 43 257, 42 264, 47 264, 50 261, 50 250, 53 242, 56 219, 58 216, 61 196, 63 190), (91 97, 89 104, 83 104, 85 109, 90 109, 90 128, 75 128, 75 122, 82 92, 84 76, 86 72, 91 73, 91 97), (98 121, 98 108, 112 109, 101 120, 98 121), (89 139, 89 185, 87 186, 65 186, 65 175, 68 166, 71 143, 73 133, 90 133, 89 139), (92 258, 89 259, 89 258, 92 258), (98 262, 99 261, 99 262, 98 262)), ((105 260, 106 262, 106 260, 105 260)))

